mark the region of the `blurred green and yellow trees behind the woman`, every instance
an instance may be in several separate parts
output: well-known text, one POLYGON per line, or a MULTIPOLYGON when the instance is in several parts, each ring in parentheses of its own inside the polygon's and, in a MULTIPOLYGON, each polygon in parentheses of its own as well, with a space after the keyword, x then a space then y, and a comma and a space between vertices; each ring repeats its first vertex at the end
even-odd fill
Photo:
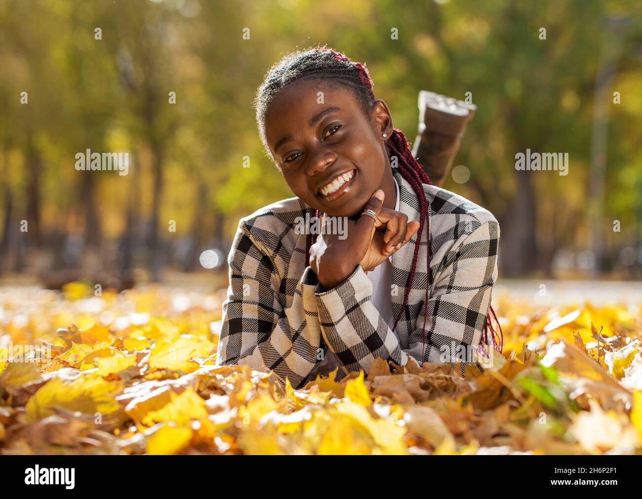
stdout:
POLYGON ((292 195, 256 88, 317 44, 367 65, 410 142, 419 90, 472 93, 470 178, 444 187, 498 217, 503 276, 641 277, 639 1, 0 0, 4 278, 126 287, 204 271, 207 249, 227 271, 239 217, 292 195), (516 171, 526 148, 569 153, 568 175, 516 171), (128 151, 129 174, 76 171, 85 149, 128 151))

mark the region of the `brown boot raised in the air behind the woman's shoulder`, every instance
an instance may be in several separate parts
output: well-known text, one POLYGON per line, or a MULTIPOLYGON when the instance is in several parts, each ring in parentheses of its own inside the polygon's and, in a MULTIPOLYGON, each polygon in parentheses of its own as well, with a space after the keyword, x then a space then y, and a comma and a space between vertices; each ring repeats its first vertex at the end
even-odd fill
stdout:
POLYGON ((435 185, 443 185, 477 106, 435 92, 419 92, 419 132, 412 155, 435 185))

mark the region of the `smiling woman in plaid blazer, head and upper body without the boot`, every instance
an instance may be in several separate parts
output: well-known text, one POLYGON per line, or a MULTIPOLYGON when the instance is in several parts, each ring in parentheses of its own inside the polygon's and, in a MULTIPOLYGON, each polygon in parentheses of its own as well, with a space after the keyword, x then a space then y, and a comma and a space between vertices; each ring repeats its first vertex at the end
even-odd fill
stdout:
POLYGON ((239 222, 217 364, 294 387, 335 366, 368 373, 377 357, 461 362, 464 375, 480 342, 496 344, 496 219, 432 185, 367 69, 341 53, 285 56, 254 106, 296 197, 239 222), (297 230, 306 215, 345 217, 345 232, 297 230))

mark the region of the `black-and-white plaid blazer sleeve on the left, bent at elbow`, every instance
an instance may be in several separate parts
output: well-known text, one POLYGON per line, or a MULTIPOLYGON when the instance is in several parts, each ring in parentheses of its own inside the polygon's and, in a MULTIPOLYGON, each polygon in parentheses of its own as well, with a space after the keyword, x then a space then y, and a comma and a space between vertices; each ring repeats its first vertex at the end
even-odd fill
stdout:
POLYGON ((243 220, 228 264, 216 365, 272 370, 282 382, 290 378, 294 387, 302 386, 313 374, 320 343, 315 286, 304 284, 308 270, 296 285, 291 306, 283 308, 277 299, 280 278, 274 255, 243 220))

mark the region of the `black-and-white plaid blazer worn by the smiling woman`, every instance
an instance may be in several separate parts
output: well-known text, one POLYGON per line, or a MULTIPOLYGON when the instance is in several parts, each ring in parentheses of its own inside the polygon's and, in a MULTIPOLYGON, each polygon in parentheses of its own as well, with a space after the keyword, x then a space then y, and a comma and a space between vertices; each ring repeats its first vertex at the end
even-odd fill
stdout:
MULTIPOLYGON (((397 169, 399 210, 419 220, 419 200, 397 169)), ((368 373, 376 357, 405 365, 455 362, 451 355, 480 343, 497 278, 499 224, 488 210, 424 184, 430 217, 430 282, 425 231, 408 303, 397 336, 372 305, 372 283, 357 266, 325 290, 305 260, 306 234, 297 217, 313 213, 299 198, 268 205, 239 221, 229 254, 229 289, 223 303, 217 365, 274 371, 294 387, 313 379, 330 350, 345 371, 368 373), (428 315, 424 317, 426 286, 428 315), (425 319, 425 348, 422 325, 425 319), (453 348, 454 347, 454 348, 453 348)), ((312 215, 311 215, 312 216, 312 215)), ((417 233, 392 255, 392 312, 403 304, 417 233)), ((460 364, 462 374, 465 364, 460 364)))

